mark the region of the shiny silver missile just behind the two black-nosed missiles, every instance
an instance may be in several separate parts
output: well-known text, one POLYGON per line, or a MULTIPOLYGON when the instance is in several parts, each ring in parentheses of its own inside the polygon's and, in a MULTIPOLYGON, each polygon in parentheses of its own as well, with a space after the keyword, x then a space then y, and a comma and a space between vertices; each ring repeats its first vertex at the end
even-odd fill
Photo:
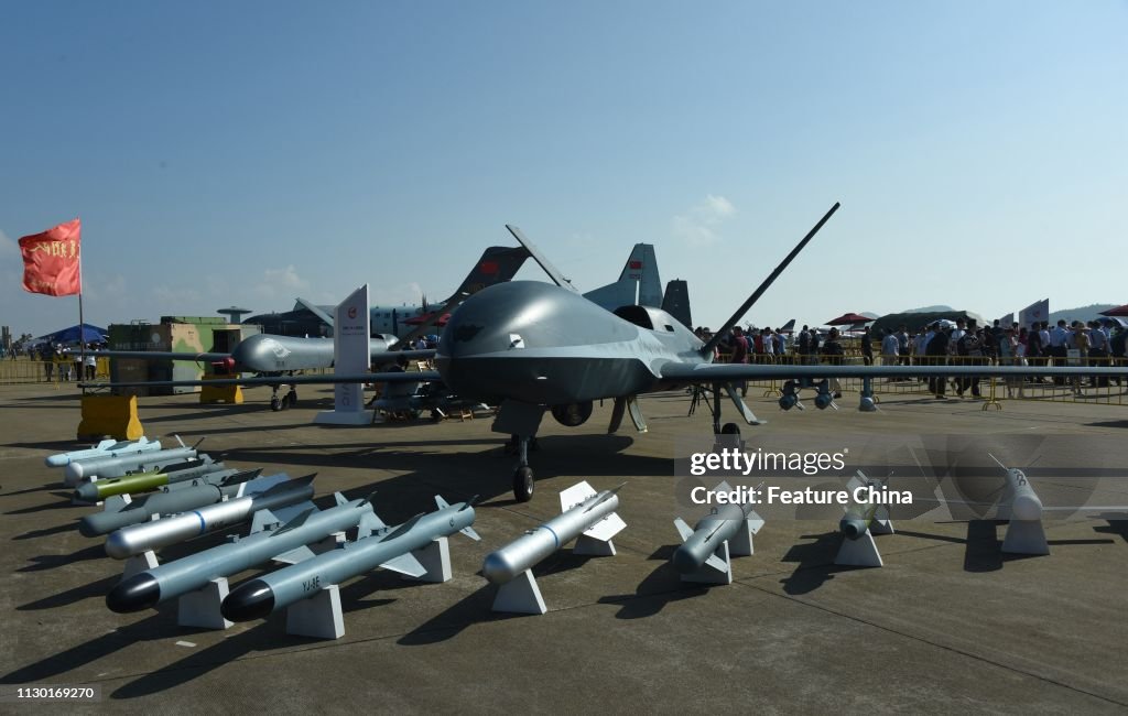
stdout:
POLYGON ((276 477, 280 476, 272 475, 267 483, 246 485, 245 494, 233 500, 120 529, 106 538, 106 554, 114 559, 127 559, 246 522, 259 510, 281 510, 302 502, 307 509, 312 507, 308 501, 314 496, 316 474, 293 480, 285 475, 281 475, 282 479, 276 477))

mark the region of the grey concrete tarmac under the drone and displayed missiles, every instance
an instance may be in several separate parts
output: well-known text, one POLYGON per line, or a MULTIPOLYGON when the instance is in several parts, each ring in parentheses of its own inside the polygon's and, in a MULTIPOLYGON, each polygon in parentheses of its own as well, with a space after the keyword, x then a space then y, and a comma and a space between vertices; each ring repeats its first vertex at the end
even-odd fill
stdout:
MULTIPOLYGON (((751 388, 749 403, 769 423, 743 436, 765 447, 800 432, 828 449, 843 434, 1067 435, 1078 439, 1068 463, 1085 466, 1092 451, 1122 447, 1128 430, 1119 406, 1006 401, 984 412, 978 401, 908 396, 861 414, 847 394, 839 412, 782 413, 761 392, 751 388)), ((42 708, 150 714, 1128 709, 1128 522, 1047 520, 1051 555, 1020 557, 999 551, 1005 524, 905 521, 876 538, 885 566, 862 569, 832 564, 836 519, 769 520, 756 554, 734 559, 732 585, 694 586, 669 564, 679 543, 672 520, 693 516, 675 497, 673 445, 711 428, 703 406, 686 416, 684 394, 642 399, 645 434, 625 421, 606 435, 610 404, 576 428, 546 416, 531 453, 537 494, 526 504, 512 500, 513 459, 488 418, 314 426, 332 391, 301 394, 280 413, 265 390, 248 390, 241 406, 141 398, 140 416, 153 437, 206 436, 202 450, 229 467, 316 471, 321 506, 334 490, 374 493, 389 524, 433 510, 435 494, 481 495, 483 541, 451 538, 455 578, 413 584, 378 571, 345 583, 345 636, 335 642, 285 635, 283 615, 226 631, 177 627, 175 602, 115 615, 104 598, 122 564, 78 533, 91 507, 71 506, 61 471, 43 465, 80 447, 74 389, 0 388, 0 695, 88 684, 100 701, 42 708), (559 490, 581 479, 597 489, 628 483, 618 555, 565 548, 534 569, 547 615, 491 613, 494 587, 478 574, 485 555, 557 513, 559 490)), ((1070 485, 1034 486, 1069 500, 1070 485)), ((1103 479, 1085 498, 1128 504, 1128 483, 1103 479)), ((0 713, 27 704, 0 701, 0 713)))

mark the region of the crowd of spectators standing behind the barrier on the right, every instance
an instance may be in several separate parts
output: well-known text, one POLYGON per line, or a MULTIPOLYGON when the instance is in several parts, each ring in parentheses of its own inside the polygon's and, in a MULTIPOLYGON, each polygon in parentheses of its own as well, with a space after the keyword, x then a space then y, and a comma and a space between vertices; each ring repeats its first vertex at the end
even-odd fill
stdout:
MULTIPOLYGON (((708 341, 708 328, 694 330, 698 338, 708 341)), ((1125 362, 1125 343, 1128 330, 1118 326, 1116 330, 1100 321, 1057 321, 1050 327, 1041 321, 1028 326, 1012 324, 1002 326, 998 320, 992 326, 976 326, 963 320, 935 321, 916 333, 906 325, 896 329, 883 329, 878 335, 866 326, 861 335, 844 339, 837 328, 826 335, 809 326, 803 326, 795 335, 772 328, 735 327, 722 337, 717 345, 716 359, 730 363, 781 363, 781 364, 841 364, 846 355, 860 355, 866 365, 875 363, 874 350, 882 365, 1025 365, 1025 366, 1107 366, 1125 362)), ((949 380, 933 377, 927 380, 928 391, 936 398, 944 398, 951 387, 959 396, 980 396, 980 379, 975 375, 949 380)), ((1034 380, 1034 379, 1031 379, 1034 380)), ((1119 379, 1112 379, 1118 386, 1119 379)), ((1048 382, 1038 379, 1034 382, 1048 382)), ((1082 388, 1107 387, 1108 378, 1091 377, 1086 380, 1055 378, 1057 386, 1068 384, 1075 395, 1082 388)), ((836 397, 840 392, 838 381, 831 381, 836 397)), ((1023 396, 1024 381, 1019 378, 1006 381, 1007 397, 1023 396)), ((741 386, 741 394, 747 387, 741 386)))

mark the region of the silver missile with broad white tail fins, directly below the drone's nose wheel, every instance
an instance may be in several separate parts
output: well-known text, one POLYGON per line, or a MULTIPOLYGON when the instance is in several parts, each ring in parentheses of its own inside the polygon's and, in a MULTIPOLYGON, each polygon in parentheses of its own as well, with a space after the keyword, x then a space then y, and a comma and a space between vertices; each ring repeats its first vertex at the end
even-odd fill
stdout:
POLYGON ((482 574, 494 584, 505 584, 581 534, 610 540, 626 527, 615 514, 622 487, 597 494, 588 483, 579 483, 562 492, 564 512, 486 555, 482 574))

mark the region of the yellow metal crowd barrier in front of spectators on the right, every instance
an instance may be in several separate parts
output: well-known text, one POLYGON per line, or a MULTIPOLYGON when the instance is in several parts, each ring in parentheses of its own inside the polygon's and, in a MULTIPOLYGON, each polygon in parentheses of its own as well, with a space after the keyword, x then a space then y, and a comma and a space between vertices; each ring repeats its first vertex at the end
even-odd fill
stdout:
MULTIPOLYGON (((755 359, 756 356, 751 357, 755 359)), ((726 359, 726 355, 722 355, 717 362, 725 363, 728 362, 726 359)), ((797 355, 777 356, 773 363, 776 365, 795 365, 800 362, 799 359, 800 356, 797 355)), ((936 361, 943 361, 942 364, 944 365, 1026 365, 1030 368, 1045 368, 1048 364, 1069 368, 1109 368, 1128 365, 1128 362, 1123 359, 1114 357, 1074 356, 1066 359, 1032 359, 1029 361, 1019 359, 1001 362, 987 357, 972 357, 966 355, 906 356, 904 359, 897 359, 895 364, 936 365, 936 361)), ((845 356, 841 363, 844 365, 862 365, 863 360, 861 356, 845 356)), ((882 362, 880 356, 875 359, 874 363, 876 365, 885 364, 882 362)), ((826 365, 827 361, 822 361, 820 364, 826 365)), ((860 378, 843 378, 839 380, 839 383, 844 392, 861 392, 862 390, 862 379, 860 378)), ((769 397, 772 395, 779 394, 779 388, 783 386, 783 381, 757 380, 748 381, 748 384, 750 387, 755 386, 757 388, 764 388, 764 396, 769 397)), ((969 400, 982 399, 985 401, 984 409, 987 409, 988 405, 998 407, 998 403, 1002 400, 1042 400, 1052 403, 1128 405, 1128 379, 1094 379, 1092 377, 1038 379, 1034 377, 1026 377, 1022 380, 1014 378, 980 378, 978 380, 964 378, 962 380, 958 380, 954 377, 950 377, 937 384, 935 382, 929 383, 928 379, 925 378, 911 380, 880 378, 873 380, 873 392, 879 401, 882 395, 936 396, 937 392, 940 392, 945 398, 964 398, 969 400)))

